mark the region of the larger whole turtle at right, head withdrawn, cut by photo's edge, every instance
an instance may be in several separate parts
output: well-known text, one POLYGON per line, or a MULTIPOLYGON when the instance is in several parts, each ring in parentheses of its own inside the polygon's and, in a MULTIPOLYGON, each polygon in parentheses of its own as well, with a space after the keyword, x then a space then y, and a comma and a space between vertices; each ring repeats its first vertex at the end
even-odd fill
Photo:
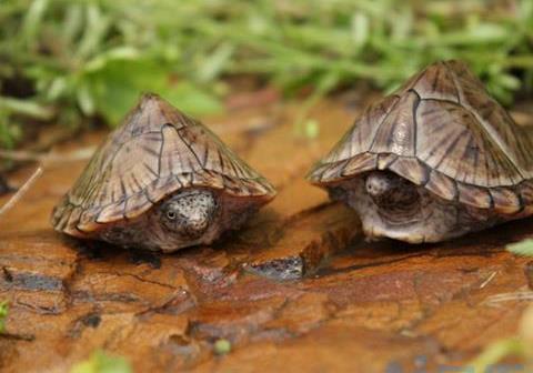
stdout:
POLYGON ((533 141, 466 63, 371 103, 308 174, 370 240, 440 242, 533 213, 533 141))

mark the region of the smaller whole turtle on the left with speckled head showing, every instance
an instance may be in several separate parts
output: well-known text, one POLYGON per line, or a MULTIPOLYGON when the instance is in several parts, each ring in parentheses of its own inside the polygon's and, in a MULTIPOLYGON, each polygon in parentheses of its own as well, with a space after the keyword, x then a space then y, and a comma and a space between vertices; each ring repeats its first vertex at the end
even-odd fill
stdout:
POLYGON ((54 206, 53 228, 173 252, 239 229, 275 189, 201 122, 145 93, 54 206))

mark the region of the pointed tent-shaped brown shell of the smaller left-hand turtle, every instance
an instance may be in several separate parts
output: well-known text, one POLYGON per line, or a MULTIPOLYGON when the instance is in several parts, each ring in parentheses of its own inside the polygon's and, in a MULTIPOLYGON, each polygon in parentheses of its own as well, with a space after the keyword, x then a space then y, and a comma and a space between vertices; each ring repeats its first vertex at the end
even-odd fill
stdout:
POLYGON ((190 186, 269 202, 274 188, 202 123, 157 94, 142 95, 97 150, 52 212, 52 225, 87 236, 102 224, 134 219, 190 186))

